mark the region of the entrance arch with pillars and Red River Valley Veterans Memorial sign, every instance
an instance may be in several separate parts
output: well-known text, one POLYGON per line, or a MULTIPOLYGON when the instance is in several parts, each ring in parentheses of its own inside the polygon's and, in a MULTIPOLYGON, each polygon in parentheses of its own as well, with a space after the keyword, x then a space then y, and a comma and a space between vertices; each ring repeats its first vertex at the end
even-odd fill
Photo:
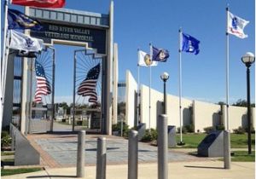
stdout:
MULTIPOLYGON (((44 45, 55 43, 91 49, 102 56, 102 134, 112 135, 113 120, 113 1, 109 14, 98 14, 74 9, 25 8, 25 14, 44 26, 41 32, 26 31, 33 38, 41 38, 44 45)), ((28 88, 27 59, 23 63, 21 103, 22 133, 26 130, 28 88)))

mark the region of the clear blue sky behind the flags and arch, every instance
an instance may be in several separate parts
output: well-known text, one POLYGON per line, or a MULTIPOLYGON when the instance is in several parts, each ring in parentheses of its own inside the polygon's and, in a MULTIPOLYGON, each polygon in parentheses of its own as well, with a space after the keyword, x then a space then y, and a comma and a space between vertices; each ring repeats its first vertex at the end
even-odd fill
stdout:
MULTIPOLYGON (((2 1, 3 3, 3 1, 2 1)), ((200 101, 225 101, 226 4, 230 12, 250 23, 245 28, 248 38, 230 35, 230 103, 246 99, 246 67, 241 56, 255 54, 255 3, 253 0, 188 1, 130 0, 114 1, 114 42, 119 44, 119 79, 128 69, 137 78, 137 48, 149 52, 148 43, 168 49, 166 63, 152 68, 152 88, 163 90, 160 74, 168 72, 167 92, 178 95, 178 28, 199 39, 199 55, 183 53, 183 97, 200 101)), ((108 14, 110 1, 67 0, 67 9, 108 14)), ((18 6, 11 8, 20 9, 18 6)), ((3 11, 2 11, 3 15, 3 11)), ((3 18, 3 17, 2 17, 3 18)), ((2 20, 3 22, 3 20, 2 20)), ((69 99, 73 93, 73 49, 55 45, 56 99, 69 99), (59 96, 59 97, 58 97, 59 96)), ((141 68, 141 82, 149 84, 149 69, 141 68)), ((251 96, 255 98, 255 68, 251 67, 251 96)), ((57 100, 59 101, 59 100, 57 100)), ((69 100, 67 100, 69 101, 69 100)))

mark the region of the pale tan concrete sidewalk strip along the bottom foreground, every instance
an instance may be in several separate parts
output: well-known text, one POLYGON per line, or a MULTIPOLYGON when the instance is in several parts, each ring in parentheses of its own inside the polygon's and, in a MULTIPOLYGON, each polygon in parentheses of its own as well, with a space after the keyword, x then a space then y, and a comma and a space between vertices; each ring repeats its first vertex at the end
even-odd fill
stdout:
MULTIPOLYGON (((195 161, 169 163, 169 177, 172 179, 254 179, 254 162, 232 162, 230 170, 224 170, 221 161, 195 161)), ((96 166, 85 167, 86 179, 96 178, 96 166)), ((126 179, 127 165, 107 165, 107 179, 126 179)), ((27 178, 76 178, 76 168, 46 169, 38 172, 20 174, 15 176, 2 176, 3 179, 27 178)), ((140 164, 138 178, 156 179, 157 163, 140 164)))

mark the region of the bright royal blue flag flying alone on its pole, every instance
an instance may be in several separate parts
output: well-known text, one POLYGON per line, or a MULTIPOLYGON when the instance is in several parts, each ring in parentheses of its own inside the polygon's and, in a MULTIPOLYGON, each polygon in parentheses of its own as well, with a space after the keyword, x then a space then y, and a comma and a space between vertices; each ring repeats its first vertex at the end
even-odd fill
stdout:
POLYGON ((195 55, 199 54, 199 43, 200 41, 188 34, 183 33, 183 52, 195 53, 195 55))

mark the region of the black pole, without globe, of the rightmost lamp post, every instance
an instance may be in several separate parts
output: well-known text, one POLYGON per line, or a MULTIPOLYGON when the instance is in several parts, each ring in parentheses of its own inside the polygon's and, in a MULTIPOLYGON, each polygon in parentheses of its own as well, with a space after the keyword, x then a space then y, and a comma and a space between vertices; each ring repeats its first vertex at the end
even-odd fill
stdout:
POLYGON ((247 66, 247 119, 248 119, 248 154, 252 153, 252 138, 251 138, 251 95, 250 95, 250 66, 247 66))

